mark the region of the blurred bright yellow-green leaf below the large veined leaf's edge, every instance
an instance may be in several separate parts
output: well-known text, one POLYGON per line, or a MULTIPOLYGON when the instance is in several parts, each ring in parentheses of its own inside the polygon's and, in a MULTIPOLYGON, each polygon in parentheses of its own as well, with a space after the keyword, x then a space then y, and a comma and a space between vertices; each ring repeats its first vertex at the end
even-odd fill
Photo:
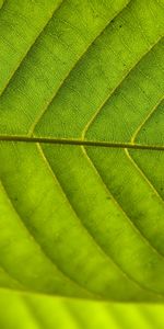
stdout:
POLYGON ((164 326, 162 305, 108 304, 4 292, 0 296, 3 329, 163 329, 164 326))

